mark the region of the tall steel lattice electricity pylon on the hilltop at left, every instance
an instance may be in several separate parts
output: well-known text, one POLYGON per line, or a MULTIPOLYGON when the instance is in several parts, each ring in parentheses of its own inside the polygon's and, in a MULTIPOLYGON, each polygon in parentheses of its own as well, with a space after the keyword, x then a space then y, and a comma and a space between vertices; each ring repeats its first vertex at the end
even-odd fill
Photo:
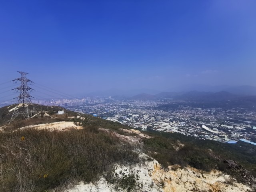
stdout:
MULTIPOLYGON (((14 88, 12 90, 16 90, 16 92, 20 92, 20 95, 18 97, 16 97, 18 99, 18 104, 15 107, 15 110, 12 114, 12 118, 10 120, 10 122, 12 122, 12 120, 14 120, 19 114, 22 115, 23 118, 25 119, 30 119, 32 117, 32 115, 36 115, 36 109, 34 108, 34 105, 32 104, 31 98, 32 97, 29 92, 32 92, 32 88, 30 88, 28 86, 28 83, 30 83, 30 85, 34 82, 32 82, 31 80, 29 80, 28 78, 26 78, 26 75, 28 73, 25 72, 21 72, 18 71, 21 74, 20 78, 16 78, 13 81, 15 83, 17 83, 18 81, 20 81, 20 86, 17 88, 14 88), (31 109, 32 106, 32 109, 31 109)), ((16 99, 14 98, 14 99, 16 99)))

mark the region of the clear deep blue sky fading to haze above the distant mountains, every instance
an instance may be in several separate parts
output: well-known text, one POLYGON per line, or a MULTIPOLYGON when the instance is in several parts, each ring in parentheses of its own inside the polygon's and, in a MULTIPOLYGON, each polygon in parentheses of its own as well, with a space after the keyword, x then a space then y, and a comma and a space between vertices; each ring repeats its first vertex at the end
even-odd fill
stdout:
POLYGON ((255 0, 0 2, 0 83, 81 93, 256 86, 255 0))

